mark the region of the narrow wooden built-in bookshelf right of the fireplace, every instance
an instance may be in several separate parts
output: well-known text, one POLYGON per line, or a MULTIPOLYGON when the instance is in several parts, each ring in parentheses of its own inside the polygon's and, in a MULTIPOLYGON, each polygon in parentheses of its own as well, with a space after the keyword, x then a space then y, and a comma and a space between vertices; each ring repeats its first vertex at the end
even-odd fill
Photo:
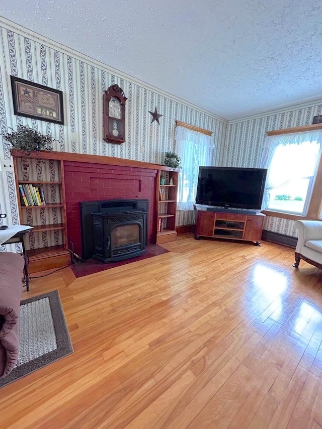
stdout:
MULTIPOLYGON (((165 167, 167 168, 167 167, 165 167)), ((156 243, 176 240, 176 215, 178 193, 178 170, 159 170, 157 186, 157 233, 156 243), (161 184, 161 177, 165 183, 161 184)))

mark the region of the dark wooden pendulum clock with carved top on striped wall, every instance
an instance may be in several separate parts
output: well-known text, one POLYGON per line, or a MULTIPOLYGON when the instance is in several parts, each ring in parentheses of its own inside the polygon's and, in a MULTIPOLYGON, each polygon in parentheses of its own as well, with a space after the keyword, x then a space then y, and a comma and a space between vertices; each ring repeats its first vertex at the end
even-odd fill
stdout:
POLYGON ((103 95, 104 140, 117 145, 125 142, 125 101, 123 89, 116 83, 103 95))

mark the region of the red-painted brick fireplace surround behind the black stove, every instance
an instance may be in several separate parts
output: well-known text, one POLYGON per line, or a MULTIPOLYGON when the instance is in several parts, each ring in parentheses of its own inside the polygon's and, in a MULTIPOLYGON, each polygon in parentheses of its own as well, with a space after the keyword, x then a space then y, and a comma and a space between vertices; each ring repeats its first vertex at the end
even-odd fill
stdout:
MULTIPOLYGON (((83 157, 86 159, 86 155, 83 157)), ((146 164, 147 167, 153 166, 146 164)), ((157 169, 69 160, 64 160, 63 165, 68 240, 72 241, 77 255, 82 254, 79 201, 113 198, 148 199, 147 242, 155 243, 157 169)))

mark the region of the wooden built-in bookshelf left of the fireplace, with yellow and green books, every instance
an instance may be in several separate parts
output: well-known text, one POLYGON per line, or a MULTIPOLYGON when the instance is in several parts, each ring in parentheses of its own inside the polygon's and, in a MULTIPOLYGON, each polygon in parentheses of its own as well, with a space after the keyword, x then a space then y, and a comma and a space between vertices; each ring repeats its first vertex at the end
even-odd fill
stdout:
POLYGON ((29 271, 68 265, 63 161, 41 152, 13 154, 20 223, 33 227, 25 237, 29 271))

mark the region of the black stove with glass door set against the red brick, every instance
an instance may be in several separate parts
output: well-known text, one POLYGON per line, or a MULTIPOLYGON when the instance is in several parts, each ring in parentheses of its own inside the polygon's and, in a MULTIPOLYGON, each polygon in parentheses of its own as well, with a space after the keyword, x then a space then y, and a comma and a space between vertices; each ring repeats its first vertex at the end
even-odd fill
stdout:
POLYGON ((81 202, 83 258, 121 261, 146 253, 148 200, 81 202))

